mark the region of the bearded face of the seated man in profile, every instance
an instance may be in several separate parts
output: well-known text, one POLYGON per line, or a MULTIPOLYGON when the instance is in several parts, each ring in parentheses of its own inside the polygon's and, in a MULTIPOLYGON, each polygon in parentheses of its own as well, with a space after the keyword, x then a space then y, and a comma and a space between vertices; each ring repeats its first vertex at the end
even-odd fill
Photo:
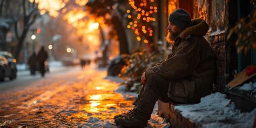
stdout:
POLYGON ((166 41, 171 43, 174 39, 181 33, 182 29, 178 28, 178 26, 174 25, 173 23, 169 22, 168 25, 168 33, 166 37, 166 41))

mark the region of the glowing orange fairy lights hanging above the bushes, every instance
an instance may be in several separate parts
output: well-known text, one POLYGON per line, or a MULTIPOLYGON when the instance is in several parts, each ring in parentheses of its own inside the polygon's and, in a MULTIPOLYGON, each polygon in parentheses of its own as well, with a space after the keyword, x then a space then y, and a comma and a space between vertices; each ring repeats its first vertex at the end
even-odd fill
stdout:
POLYGON ((154 0, 140 0, 136 2, 129 0, 129 4, 133 10, 126 10, 127 18, 131 19, 127 28, 134 31, 137 35, 137 41, 142 41, 142 38, 145 37, 143 42, 149 43, 147 38, 153 36, 152 22, 156 21, 153 14, 157 13, 157 6, 154 6, 154 0))

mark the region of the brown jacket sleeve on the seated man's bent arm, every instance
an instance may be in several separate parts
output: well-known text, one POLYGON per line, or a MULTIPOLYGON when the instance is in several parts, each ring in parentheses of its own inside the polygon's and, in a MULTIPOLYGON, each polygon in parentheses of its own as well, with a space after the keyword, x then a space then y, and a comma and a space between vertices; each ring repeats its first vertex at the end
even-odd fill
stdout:
POLYGON ((179 44, 176 55, 166 59, 160 65, 150 68, 145 77, 149 77, 151 73, 156 73, 166 79, 180 79, 190 75, 197 68, 199 62, 198 42, 182 41, 179 44))

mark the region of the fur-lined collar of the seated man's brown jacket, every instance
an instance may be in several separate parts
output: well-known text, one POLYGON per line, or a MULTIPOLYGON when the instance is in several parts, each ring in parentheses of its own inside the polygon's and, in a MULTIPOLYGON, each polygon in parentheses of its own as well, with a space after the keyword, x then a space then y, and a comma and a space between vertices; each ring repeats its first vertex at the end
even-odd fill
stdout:
POLYGON ((183 32, 180 33, 179 37, 181 39, 187 38, 187 36, 204 36, 209 30, 209 25, 204 19, 192 19, 191 24, 188 25, 183 32))

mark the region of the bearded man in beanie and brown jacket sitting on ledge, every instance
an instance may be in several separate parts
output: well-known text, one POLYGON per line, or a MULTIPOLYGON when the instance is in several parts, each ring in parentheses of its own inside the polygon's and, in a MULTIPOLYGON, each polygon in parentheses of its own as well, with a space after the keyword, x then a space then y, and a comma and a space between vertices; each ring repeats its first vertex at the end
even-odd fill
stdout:
POLYGON ((193 19, 183 9, 169 16, 167 42, 174 41, 172 53, 143 73, 143 83, 134 108, 114 117, 121 126, 147 126, 157 100, 198 103, 211 93, 215 60, 210 44, 203 37, 208 31, 204 19, 193 19))

